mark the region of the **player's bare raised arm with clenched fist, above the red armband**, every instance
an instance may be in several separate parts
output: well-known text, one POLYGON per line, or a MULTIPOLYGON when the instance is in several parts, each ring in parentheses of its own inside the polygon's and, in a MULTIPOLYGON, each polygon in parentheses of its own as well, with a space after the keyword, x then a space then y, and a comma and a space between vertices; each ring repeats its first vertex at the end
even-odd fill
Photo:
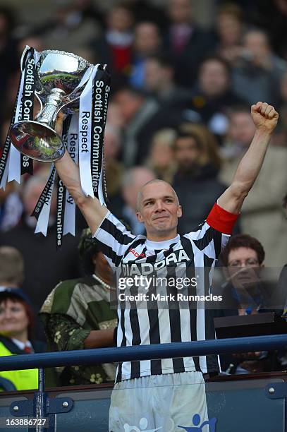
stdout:
POLYGON ((257 179, 267 152, 271 133, 279 119, 278 112, 266 102, 257 102, 256 105, 252 105, 251 116, 256 126, 255 136, 238 164, 231 186, 218 200, 221 208, 231 213, 240 212, 243 201, 257 179))

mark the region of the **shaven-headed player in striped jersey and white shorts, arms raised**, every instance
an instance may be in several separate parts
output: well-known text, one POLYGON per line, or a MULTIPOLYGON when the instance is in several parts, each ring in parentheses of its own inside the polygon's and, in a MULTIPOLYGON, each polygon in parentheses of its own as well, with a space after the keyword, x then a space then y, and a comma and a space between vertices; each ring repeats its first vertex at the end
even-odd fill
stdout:
MULTIPOLYGON (((231 186, 214 204, 207 220, 183 236, 177 234, 181 205, 173 188, 166 182, 150 181, 141 188, 138 220, 145 224, 147 236, 133 236, 96 198, 84 196, 78 167, 67 152, 56 162, 63 183, 83 212, 99 241, 99 248, 111 265, 121 268, 123 275, 136 275, 138 271, 138 276, 147 277, 156 272, 166 281, 176 279, 182 272, 195 275, 195 269, 214 267, 232 232, 243 200, 259 174, 279 118, 274 107, 262 102, 252 105, 251 115, 256 126, 255 136, 238 165, 231 186)), ((210 283, 210 274, 207 279, 210 283)), ((157 292, 157 286, 152 290, 157 292)), ((214 338, 213 325, 204 308, 181 308, 177 299, 173 301, 174 287, 169 287, 168 282, 162 290, 166 294, 165 307, 164 304, 159 306, 157 300, 149 301, 146 307, 131 299, 120 302, 118 346, 214 338)), ((197 281, 195 289, 188 287, 191 294, 208 294, 208 290, 204 275, 197 281)), ((218 369, 214 356, 119 364, 111 398, 109 431, 139 430, 138 426, 129 428, 140 425, 142 419, 147 419, 149 430, 163 432, 179 431, 179 425, 192 426, 193 414, 200 414, 202 421, 207 421, 202 373, 218 369)), ((204 426, 202 431, 204 428, 208 430, 208 426, 204 426)))

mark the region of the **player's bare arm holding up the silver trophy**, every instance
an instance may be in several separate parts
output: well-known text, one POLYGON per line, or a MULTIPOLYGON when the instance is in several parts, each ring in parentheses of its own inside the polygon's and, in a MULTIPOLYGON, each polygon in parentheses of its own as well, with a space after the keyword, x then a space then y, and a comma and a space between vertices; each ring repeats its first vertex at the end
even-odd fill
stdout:
MULTIPOLYGON (((61 134, 63 124, 63 116, 60 115, 57 120, 56 130, 61 134)), ((55 162, 56 170, 66 186, 71 196, 75 200, 75 204, 83 213, 87 224, 89 225, 91 232, 97 231, 99 225, 102 223, 106 213, 107 208, 99 203, 97 198, 91 198, 90 196, 85 196, 80 186, 80 172, 78 166, 73 162, 71 156, 68 152, 65 152, 63 157, 55 162)))

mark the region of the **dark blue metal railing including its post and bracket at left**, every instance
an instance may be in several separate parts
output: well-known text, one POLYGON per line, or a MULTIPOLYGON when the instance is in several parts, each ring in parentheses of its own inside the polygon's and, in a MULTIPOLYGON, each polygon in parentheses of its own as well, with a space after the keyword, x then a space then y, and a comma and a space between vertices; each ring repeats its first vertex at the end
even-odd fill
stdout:
MULTIPOLYGON (((39 369, 38 390, 35 391, 33 400, 14 400, 10 405, 10 412, 16 419, 20 416, 25 417, 25 419, 28 418, 29 421, 32 418, 40 422, 36 426, 29 426, 29 432, 55 432, 56 414, 70 412, 73 408, 73 400, 71 397, 49 397, 49 394, 45 391, 44 383, 44 368, 46 367, 168 359, 273 349, 287 349, 287 335, 238 337, 235 339, 173 342, 171 344, 142 345, 137 347, 111 347, 3 356, 0 357, 0 371, 39 369), (47 420, 48 426, 46 427, 45 422, 47 420)), ((12 419, 11 424, 12 421, 15 423, 16 420, 12 419)))

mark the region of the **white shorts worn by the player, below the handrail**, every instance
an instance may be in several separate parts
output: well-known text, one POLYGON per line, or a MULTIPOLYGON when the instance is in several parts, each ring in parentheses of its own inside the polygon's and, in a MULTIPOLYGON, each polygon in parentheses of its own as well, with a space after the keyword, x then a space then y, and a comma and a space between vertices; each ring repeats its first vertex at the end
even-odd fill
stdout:
POLYGON ((208 423, 201 372, 144 376, 114 386, 109 432, 183 432, 197 428, 209 432, 208 423))

